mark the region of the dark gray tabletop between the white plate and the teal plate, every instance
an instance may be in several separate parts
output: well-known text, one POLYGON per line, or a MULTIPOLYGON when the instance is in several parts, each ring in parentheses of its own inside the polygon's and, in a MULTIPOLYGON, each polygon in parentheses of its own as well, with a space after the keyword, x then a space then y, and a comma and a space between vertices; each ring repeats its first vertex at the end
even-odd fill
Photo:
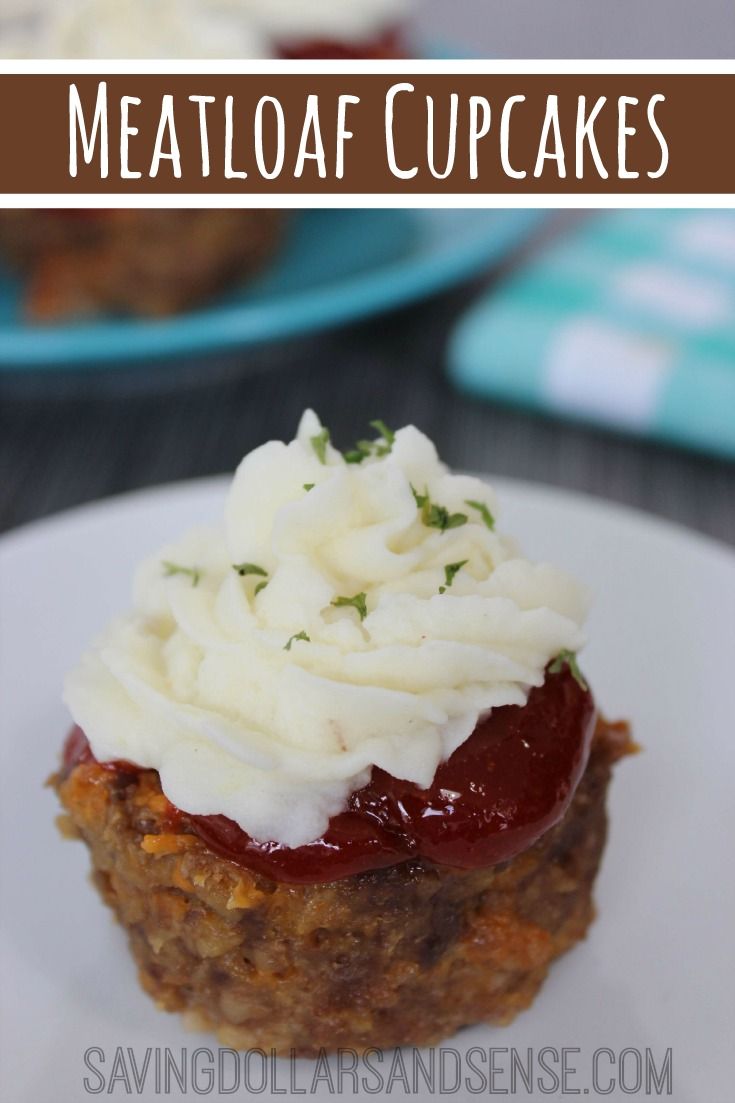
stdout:
MULTIPOLYGON (((0 529, 138 486, 231 471, 288 439, 313 405, 338 443, 413 420, 452 465, 649 510, 735 544, 735 465, 475 403, 444 376, 450 325, 478 285, 233 357, 94 377, 0 378, 0 529)), ((734 414, 735 416, 735 414, 734 414)))

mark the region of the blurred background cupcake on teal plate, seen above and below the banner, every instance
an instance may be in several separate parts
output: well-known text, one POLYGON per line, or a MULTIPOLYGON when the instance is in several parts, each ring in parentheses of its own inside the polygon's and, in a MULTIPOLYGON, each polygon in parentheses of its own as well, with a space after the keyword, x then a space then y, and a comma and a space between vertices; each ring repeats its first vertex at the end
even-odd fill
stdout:
MULTIPOLYGON (((397 57, 408 0, 10 0, 0 56, 397 57)), ((35 321, 164 315, 262 269, 276 211, 4 211, 0 257, 26 278, 35 321)))

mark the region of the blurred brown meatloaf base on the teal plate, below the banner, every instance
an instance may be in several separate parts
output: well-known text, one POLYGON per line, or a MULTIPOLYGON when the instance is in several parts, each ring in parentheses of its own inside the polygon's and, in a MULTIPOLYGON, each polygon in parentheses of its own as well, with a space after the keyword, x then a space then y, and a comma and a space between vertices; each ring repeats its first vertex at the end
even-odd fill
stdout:
POLYGON ((3 211, 0 253, 25 271, 36 321, 156 317, 252 276, 283 222, 279 211, 3 211))

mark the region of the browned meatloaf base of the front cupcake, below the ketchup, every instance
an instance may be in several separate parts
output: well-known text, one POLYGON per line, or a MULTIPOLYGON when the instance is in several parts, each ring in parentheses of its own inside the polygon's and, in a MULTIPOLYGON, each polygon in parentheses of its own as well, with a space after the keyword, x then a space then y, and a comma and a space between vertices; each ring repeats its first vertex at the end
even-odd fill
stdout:
POLYGON ((53 781, 159 1006, 228 1046, 313 1054, 434 1043, 528 1007, 593 919, 610 768, 630 746, 599 721, 566 815, 512 861, 327 885, 277 884, 171 833, 155 771, 79 764, 53 781))

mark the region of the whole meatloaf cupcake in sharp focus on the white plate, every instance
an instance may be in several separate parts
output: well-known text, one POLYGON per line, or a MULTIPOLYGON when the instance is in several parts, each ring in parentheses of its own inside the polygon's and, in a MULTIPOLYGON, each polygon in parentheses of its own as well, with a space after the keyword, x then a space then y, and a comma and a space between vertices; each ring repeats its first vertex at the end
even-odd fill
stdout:
POLYGON ((312 413, 141 566, 70 674, 54 785, 143 988, 228 1046, 508 1022, 584 936, 627 729, 585 598, 417 429, 312 413))

